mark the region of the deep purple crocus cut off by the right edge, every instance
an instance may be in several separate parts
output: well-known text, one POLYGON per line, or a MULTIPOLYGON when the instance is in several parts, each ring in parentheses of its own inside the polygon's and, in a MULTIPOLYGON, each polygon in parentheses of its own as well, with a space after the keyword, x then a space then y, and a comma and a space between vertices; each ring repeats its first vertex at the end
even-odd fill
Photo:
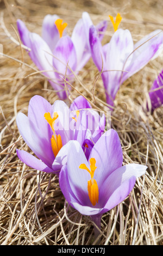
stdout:
MULTIPOLYGON (((151 89, 149 90, 149 97, 151 100, 151 109, 160 107, 163 104, 163 70, 154 80, 151 89)), ((149 106, 147 106, 149 109, 149 106)))

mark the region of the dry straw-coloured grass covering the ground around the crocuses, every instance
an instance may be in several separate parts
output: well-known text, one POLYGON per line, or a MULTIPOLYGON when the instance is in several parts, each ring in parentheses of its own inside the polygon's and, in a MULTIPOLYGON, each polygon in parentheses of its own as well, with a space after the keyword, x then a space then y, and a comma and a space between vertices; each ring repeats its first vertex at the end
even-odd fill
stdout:
MULTIPOLYGON (((57 96, 27 52, 17 45, 13 29, 16 19, 26 22, 30 31, 41 32, 46 14, 58 14, 72 32, 83 11, 93 22, 119 11, 122 28, 128 28, 134 41, 154 29, 163 28, 162 1, 0 1, 0 35, 4 56, 0 59, 0 244, 2 245, 93 245, 93 225, 65 202, 58 178, 31 169, 16 156, 16 148, 30 149, 16 126, 18 111, 27 114, 30 98, 39 94, 53 103, 57 96), (12 24, 12 26, 11 26, 12 24)), ((113 33, 109 23, 105 41, 113 33)), ((125 163, 147 164, 128 198, 102 217, 101 245, 162 245, 163 243, 163 107, 153 114, 143 111, 148 89, 163 68, 162 58, 150 62, 139 74, 121 86, 115 101, 111 125, 123 146, 125 163)), ((87 63, 73 86, 93 102, 92 88, 98 72, 87 63)), ((78 93, 72 90, 72 99, 78 93)), ((99 79, 95 105, 106 110, 99 79)), ((69 103, 69 101, 67 101, 69 103)))

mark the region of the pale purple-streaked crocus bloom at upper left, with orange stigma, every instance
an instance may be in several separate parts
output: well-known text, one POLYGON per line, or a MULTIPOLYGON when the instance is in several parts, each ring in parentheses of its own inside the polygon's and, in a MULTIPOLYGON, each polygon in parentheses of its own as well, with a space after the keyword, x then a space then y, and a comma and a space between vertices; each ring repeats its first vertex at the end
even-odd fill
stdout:
MULTIPOLYGON (((73 82, 72 71, 77 74, 91 57, 89 46, 89 27, 91 25, 89 14, 84 12, 70 37, 64 30, 67 26, 66 23, 62 23, 57 15, 46 15, 43 19, 41 37, 36 33, 29 32, 24 23, 17 20, 20 38, 23 44, 31 49, 29 51, 30 58, 42 71, 42 74, 48 77, 60 99, 66 98, 64 81, 61 77, 73 82)), ((106 29, 106 21, 99 23, 96 29, 98 38, 102 40, 101 32, 106 29)))

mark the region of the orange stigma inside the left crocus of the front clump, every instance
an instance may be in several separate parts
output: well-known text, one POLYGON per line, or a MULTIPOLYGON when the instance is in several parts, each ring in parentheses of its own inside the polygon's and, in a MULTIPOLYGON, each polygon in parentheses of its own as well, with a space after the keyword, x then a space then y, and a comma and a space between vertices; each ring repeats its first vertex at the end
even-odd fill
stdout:
POLYGON ((45 113, 44 117, 47 120, 48 124, 51 126, 53 131, 53 135, 51 138, 51 145, 52 145, 53 154, 56 157, 59 150, 62 148, 61 136, 60 135, 57 136, 54 130, 54 123, 55 123, 55 120, 58 118, 58 113, 54 112, 53 118, 52 118, 51 114, 48 112, 48 113, 45 113))

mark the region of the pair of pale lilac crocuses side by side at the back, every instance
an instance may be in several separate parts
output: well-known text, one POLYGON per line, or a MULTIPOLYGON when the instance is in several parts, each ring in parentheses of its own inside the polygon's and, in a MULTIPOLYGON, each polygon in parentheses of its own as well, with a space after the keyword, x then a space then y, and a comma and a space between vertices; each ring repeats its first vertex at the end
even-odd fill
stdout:
POLYGON ((115 21, 112 16, 109 17, 115 33, 110 42, 103 46, 101 41, 107 22, 94 26, 86 12, 77 22, 71 37, 66 33, 67 23, 62 23, 57 15, 45 16, 42 36, 29 32, 26 25, 17 20, 20 38, 30 48, 30 58, 48 78, 60 99, 67 96, 65 81, 72 83, 74 74, 78 74, 92 57, 98 70, 102 71, 106 102, 112 109, 121 84, 142 69, 149 60, 158 56, 163 42, 163 32, 160 29, 134 44, 128 29, 118 29, 121 15, 117 14, 115 21))

